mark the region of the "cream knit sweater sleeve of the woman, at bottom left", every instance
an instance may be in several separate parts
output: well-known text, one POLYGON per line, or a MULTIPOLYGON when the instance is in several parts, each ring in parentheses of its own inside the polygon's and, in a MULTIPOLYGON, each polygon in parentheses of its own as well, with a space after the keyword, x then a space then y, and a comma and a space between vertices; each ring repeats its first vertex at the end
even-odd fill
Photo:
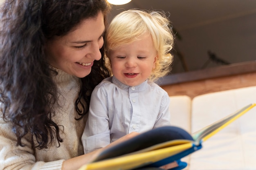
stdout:
POLYGON ((36 161, 29 135, 22 138, 23 147, 17 146, 17 137, 11 129, 0 113, 0 170, 61 170, 64 160, 36 161))

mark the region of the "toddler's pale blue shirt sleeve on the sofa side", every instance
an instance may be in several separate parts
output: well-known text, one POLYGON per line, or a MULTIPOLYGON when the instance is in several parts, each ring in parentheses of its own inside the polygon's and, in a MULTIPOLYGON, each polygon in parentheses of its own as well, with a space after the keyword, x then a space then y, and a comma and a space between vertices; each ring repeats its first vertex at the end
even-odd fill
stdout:
POLYGON ((164 93, 162 97, 160 110, 157 116, 157 120, 155 121, 154 128, 171 125, 171 113, 169 110, 169 106, 170 106, 170 98, 167 93, 164 93))

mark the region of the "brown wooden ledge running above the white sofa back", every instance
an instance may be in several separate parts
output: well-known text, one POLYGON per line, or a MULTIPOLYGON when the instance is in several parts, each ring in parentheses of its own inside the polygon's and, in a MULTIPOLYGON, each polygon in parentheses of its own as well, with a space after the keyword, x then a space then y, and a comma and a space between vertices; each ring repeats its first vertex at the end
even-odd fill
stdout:
POLYGON ((158 84, 170 96, 188 95, 191 98, 206 93, 256 86, 256 62, 168 75, 159 81, 158 84))

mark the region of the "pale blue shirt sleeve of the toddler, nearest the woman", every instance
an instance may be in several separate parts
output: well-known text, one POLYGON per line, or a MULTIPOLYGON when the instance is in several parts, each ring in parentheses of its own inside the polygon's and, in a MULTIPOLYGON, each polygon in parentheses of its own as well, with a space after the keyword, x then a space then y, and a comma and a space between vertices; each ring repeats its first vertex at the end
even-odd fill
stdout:
POLYGON ((103 87, 96 87, 92 92, 82 142, 85 153, 110 144, 108 100, 107 93, 103 87))

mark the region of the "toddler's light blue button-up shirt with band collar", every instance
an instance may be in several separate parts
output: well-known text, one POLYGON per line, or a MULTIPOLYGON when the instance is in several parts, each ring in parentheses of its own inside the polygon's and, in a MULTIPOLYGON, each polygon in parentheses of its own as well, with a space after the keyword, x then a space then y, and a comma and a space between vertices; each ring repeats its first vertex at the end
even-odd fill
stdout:
POLYGON ((127 86, 116 77, 104 79, 92 92, 82 136, 85 153, 102 148, 130 132, 170 125, 166 91, 146 80, 127 86))

